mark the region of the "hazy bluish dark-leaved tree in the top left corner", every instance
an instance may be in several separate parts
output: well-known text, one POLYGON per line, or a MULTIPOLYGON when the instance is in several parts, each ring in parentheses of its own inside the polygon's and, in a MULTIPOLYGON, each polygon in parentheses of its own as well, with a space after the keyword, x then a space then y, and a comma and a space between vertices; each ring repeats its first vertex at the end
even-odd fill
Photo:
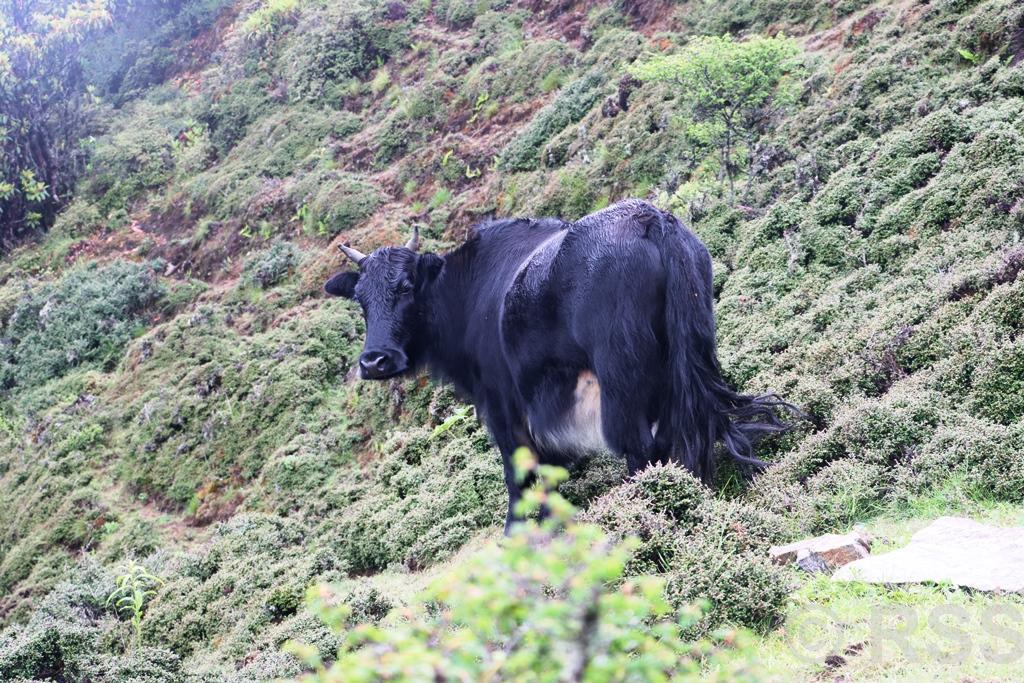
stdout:
MULTIPOLYGON (((173 71, 169 44, 221 0, 0 3, 0 251, 49 227, 95 167, 93 135, 122 100, 173 71)), ((175 134, 178 131, 174 131, 175 134)))

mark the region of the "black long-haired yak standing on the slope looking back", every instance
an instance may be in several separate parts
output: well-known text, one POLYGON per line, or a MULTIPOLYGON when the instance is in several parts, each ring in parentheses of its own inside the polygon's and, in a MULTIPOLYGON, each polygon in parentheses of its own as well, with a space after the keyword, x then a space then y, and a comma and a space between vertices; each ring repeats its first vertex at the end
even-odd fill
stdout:
POLYGON ((717 442, 760 467, 754 442, 785 429, 787 403, 723 380, 711 257, 671 213, 628 200, 571 223, 495 220, 442 256, 418 246, 342 247, 358 270, 325 289, 362 306, 365 379, 426 368, 475 404, 504 459, 506 530, 518 446, 554 465, 609 451, 631 474, 675 460, 708 481, 717 442))

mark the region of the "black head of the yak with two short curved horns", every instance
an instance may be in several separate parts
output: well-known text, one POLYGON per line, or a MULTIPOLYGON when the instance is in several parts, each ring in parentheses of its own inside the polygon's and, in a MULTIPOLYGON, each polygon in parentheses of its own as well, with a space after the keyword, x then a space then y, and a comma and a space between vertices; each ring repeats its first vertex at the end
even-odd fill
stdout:
POLYGON ((362 306, 367 341, 359 355, 359 374, 365 380, 383 380, 415 366, 425 288, 444 261, 435 254, 417 254, 419 230, 403 247, 383 247, 369 256, 348 246, 341 251, 358 270, 339 272, 324 290, 334 296, 354 299, 362 306))

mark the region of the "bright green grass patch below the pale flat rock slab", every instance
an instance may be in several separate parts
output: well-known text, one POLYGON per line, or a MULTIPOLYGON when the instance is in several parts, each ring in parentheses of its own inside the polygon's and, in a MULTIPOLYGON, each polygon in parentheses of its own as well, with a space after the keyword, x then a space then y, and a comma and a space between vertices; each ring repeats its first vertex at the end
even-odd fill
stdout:
POLYGON ((1012 681, 1022 615, 1020 596, 818 578, 794 594, 785 627, 759 642, 757 658, 769 681, 1012 681))

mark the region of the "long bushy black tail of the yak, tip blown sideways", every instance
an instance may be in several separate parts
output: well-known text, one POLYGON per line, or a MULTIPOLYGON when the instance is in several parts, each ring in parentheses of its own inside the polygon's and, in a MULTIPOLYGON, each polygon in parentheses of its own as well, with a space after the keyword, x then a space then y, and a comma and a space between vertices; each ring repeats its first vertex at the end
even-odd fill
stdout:
POLYGON ((706 482, 715 472, 718 441, 744 471, 762 469, 754 444, 765 434, 790 429, 779 409, 800 412, 775 394, 741 394, 726 384, 716 353, 711 256, 675 216, 658 213, 660 221, 652 221, 648 237, 658 243, 666 272, 671 377, 657 440, 706 482))

